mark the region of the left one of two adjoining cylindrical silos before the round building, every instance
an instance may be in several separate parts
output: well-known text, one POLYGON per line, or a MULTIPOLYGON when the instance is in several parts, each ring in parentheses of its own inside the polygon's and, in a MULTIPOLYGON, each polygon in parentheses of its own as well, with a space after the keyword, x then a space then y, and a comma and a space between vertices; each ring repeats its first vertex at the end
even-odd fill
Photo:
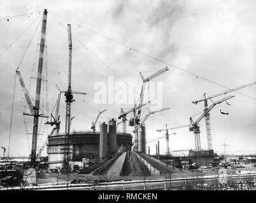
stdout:
POLYGON ((108 125, 105 124, 105 122, 103 122, 103 124, 100 125, 100 133, 99 133, 99 159, 103 159, 108 155, 107 134, 108 134, 108 125))

